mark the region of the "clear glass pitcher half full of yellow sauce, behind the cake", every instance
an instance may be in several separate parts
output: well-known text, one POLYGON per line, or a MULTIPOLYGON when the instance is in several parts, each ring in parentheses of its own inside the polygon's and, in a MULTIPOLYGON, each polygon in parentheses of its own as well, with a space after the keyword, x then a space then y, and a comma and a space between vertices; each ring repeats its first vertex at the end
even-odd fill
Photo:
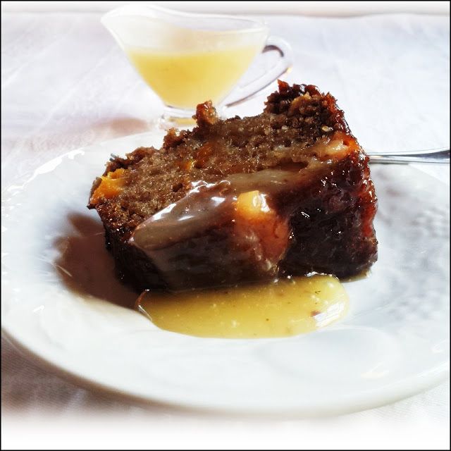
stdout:
POLYGON ((289 44, 268 37, 268 27, 259 20, 128 5, 106 13, 101 23, 163 101, 164 125, 187 123, 206 100, 220 108, 239 104, 291 65, 289 44), (273 68, 237 86, 254 58, 273 50, 279 56, 273 68))

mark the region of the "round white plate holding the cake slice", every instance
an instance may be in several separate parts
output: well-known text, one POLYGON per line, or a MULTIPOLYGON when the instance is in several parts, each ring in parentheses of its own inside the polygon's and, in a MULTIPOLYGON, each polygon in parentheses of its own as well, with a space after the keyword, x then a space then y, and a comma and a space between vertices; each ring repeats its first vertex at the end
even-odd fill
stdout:
POLYGON ((340 323, 292 338, 206 339, 121 307, 134 296, 113 278, 101 223, 85 205, 111 153, 160 141, 147 133, 70 152, 5 190, 2 327, 16 345, 96 387, 235 412, 351 412, 447 376, 449 194, 412 166, 372 168, 379 259, 368 278, 346 284, 340 323))

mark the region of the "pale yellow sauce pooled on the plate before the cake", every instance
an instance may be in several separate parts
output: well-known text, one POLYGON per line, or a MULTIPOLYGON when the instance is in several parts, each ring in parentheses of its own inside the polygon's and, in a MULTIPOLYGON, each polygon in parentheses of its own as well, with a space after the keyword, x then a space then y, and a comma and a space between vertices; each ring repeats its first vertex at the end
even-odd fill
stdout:
POLYGON ((287 337, 342 318, 348 297, 338 278, 316 274, 178 293, 144 291, 136 308, 161 329, 211 338, 287 337))

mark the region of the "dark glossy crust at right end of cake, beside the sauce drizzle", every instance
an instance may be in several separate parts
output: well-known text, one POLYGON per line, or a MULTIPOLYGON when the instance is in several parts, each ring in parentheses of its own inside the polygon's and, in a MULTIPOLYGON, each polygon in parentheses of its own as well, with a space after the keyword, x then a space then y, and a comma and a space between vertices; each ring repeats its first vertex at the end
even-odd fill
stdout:
MULTIPOLYGON (((347 156, 297 196, 299 209, 290 220, 293 242, 280 273, 315 271, 346 278, 369 269, 377 259, 373 229, 377 201, 368 157, 347 156)), ((288 200, 285 196, 280 204, 288 200)))

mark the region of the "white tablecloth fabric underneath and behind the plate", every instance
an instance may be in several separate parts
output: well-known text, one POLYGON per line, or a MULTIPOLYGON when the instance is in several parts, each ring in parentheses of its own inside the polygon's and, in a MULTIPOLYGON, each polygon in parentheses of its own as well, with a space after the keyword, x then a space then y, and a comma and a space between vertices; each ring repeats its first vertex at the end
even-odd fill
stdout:
MULTIPOLYGON (((2 188, 68 150, 143 132, 161 112, 99 16, 2 13, 2 188)), ((449 17, 267 20, 292 44, 288 80, 332 92, 364 147, 449 145, 449 17)), ((256 113, 262 101, 236 112, 256 113)), ((449 183, 449 166, 426 170, 449 183)), ((3 340, 1 376, 9 448, 449 447, 449 382, 379 409, 302 420, 138 407, 39 369, 3 340)))

